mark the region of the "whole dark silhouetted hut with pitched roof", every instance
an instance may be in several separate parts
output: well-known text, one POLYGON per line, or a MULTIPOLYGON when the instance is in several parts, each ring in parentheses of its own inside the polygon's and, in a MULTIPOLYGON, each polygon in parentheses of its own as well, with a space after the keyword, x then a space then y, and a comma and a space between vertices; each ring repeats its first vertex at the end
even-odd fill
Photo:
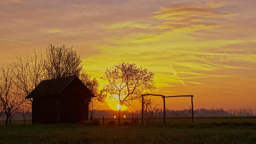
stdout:
POLYGON ((26 96, 33 98, 32 123, 80 123, 88 120, 94 94, 77 77, 43 80, 26 96))

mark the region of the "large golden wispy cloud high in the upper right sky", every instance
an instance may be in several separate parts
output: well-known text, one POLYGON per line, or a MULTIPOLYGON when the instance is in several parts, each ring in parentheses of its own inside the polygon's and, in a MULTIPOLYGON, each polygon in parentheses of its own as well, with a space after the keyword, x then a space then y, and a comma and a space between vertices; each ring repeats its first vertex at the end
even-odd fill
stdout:
POLYGON ((217 25, 216 18, 237 15, 235 13, 222 13, 200 5, 163 8, 161 11, 155 12, 155 14, 153 18, 165 20, 157 28, 192 28, 195 30, 213 29, 217 25))

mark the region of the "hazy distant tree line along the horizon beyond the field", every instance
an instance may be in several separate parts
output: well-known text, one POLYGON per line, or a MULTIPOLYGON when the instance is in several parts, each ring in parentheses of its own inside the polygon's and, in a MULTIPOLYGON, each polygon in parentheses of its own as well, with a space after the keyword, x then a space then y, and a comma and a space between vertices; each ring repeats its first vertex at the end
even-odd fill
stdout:
MULTIPOLYGON (((119 111, 116 110, 94 110, 94 118, 102 118, 104 116, 105 118, 113 119, 114 116, 118 116, 119 111)), ((31 113, 27 113, 27 118, 29 117, 31 113)), ((231 110, 223 110, 222 108, 216 108, 216 109, 196 109, 194 110, 195 116, 255 116, 255 111, 253 111, 251 108, 240 108, 240 109, 231 109, 231 110), (246 112, 249 111, 249 112, 246 112)), ((121 117, 126 115, 127 119, 131 119, 132 117, 137 117, 140 119, 141 117, 141 111, 123 111, 121 117)), ((166 116, 171 118, 177 118, 177 119, 191 119, 191 109, 184 109, 184 110, 166 110, 166 116)), ((149 111, 149 108, 147 108, 147 114, 146 114, 147 122, 152 123, 155 119, 163 119, 163 110, 161 108, 154 108, 149 111)), ((0 117, 0 120, 5 119, 6 116, 0 117)), ((22 111, 18 111, 16 113, 15 117, 12 117, 15 120, 21 120, 23 119, 22 111)))

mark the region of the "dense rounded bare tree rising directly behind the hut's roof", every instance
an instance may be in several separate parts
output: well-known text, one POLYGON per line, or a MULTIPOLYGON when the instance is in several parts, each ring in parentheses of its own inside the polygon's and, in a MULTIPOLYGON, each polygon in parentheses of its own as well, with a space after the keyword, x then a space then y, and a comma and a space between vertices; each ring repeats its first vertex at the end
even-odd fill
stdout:
POLYGON ((82 71, 83 65, 76 50, 63 46, 48 46, 44 60, 46 79, 77 75, 82 71))

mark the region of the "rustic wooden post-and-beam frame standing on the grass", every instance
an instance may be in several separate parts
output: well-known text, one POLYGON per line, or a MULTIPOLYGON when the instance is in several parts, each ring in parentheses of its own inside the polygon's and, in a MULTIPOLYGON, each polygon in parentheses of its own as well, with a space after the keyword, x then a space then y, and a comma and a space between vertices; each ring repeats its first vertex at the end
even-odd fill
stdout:
POLYGON ((164 96, 159 94, 143 94, 141 95, 141 125, 143 125, 144 120, 144 96, 151 95, 151 96, 161 96, 164 103, 164 125, 166 123, 166 117, 165 117, 165 98, 176 98, 176 97, 191 97, 191 106, 192 106, 192 122, 194 122, 194 107, 193 107, 193 95, 176 95, 176 96, 164 96))

